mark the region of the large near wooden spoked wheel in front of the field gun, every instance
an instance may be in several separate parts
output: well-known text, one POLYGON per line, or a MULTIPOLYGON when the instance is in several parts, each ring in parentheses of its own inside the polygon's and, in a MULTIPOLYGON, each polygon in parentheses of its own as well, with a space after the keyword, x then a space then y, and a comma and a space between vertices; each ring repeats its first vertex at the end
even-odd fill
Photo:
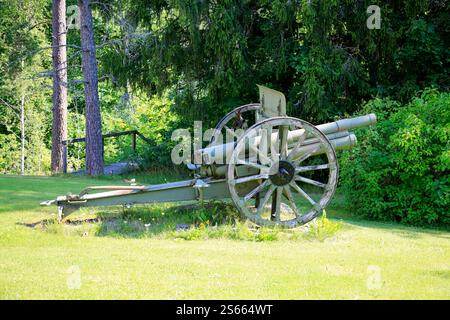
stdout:
POLYGON ((250 127, 228 165, 237 208, 258 225, 293 228, 314 219, 336 189, 334 148, 312 124, 274 117, 250 127))

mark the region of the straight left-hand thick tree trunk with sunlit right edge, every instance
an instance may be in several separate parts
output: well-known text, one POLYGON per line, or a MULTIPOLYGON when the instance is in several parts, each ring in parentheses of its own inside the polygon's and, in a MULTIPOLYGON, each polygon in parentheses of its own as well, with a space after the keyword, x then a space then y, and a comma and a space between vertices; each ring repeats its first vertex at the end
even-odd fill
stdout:
POLYGON ((63 171, 63 140, 67 139, 66 0, 53 0, 53 127, 52 172, 63 171))

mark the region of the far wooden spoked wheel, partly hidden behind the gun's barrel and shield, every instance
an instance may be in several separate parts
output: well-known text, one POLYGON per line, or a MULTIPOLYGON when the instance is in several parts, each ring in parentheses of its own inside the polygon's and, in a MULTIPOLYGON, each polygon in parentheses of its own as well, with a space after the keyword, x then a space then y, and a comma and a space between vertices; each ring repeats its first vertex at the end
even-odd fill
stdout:
POLYGON ((249 123, 255 122, 256 112, 261 110, 261 104, 250 103, 227 113, 214 128, 213 134, 209 141, 210 146, 223 144, 226 138, 237 140, 250 126, 249 123))

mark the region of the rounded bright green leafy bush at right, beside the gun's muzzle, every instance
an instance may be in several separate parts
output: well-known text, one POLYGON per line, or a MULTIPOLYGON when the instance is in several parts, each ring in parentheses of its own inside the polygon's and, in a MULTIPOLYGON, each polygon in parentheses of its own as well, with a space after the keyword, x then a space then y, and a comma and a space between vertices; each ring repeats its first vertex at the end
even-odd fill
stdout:
POLYGON ((341 156, 341 186, 353 212, 414 225, 450 223, 450 94, 425 91, 408 105, 375 99, 376 126, 341 156))

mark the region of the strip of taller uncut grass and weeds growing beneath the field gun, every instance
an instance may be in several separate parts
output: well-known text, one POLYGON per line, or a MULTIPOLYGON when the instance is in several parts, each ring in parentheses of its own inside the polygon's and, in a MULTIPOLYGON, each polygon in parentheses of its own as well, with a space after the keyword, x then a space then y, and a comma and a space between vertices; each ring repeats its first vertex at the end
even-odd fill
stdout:
POLYGON ((80 212, 59 224, 45 219, 21 224, 49 233, 95 235, 114 238, 162 238, 183 240, 232 239, 244 241, 319 240, 333 238, 342 223, 323 216, 296 229, 258 227, 241 219, 231 202, 185 205, 155 204, 95 214, 80 212))

